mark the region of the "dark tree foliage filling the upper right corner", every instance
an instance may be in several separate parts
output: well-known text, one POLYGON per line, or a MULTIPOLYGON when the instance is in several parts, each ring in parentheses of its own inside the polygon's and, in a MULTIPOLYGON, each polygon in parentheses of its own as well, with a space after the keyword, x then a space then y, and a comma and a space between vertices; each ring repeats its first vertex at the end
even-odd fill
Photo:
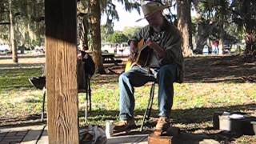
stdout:
POLYGON ((202 19, 218 22, 217 38, 221 36, 222 27, 226 30, 224 35, 232 35, 240 40, 243 37, 246 41, 246 55, 253 61, 256 59, 256 1, 204 0, 196 2, 196 10, 200 12, 202 19))

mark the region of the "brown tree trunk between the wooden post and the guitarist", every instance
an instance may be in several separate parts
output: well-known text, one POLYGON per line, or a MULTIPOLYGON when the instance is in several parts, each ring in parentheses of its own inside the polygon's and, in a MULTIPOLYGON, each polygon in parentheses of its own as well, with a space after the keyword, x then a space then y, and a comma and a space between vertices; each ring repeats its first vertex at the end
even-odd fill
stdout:
POLYGON ((93 50, 93 58, 95 62, 96 73, 105 74, 102 63, 101 50, 101 10, 98 0, 90 0, 90 27, 91 27, 91 41, 93 50))

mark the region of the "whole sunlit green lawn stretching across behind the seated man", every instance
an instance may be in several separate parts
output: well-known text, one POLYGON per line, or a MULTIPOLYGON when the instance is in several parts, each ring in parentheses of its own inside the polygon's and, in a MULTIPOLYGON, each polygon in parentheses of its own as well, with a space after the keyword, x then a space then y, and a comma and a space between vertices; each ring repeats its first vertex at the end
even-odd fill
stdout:
MULTIPOLYGON (((199 61, 196 59, 193 62, 198 64, 199 61)), ((207 60, 202 60, 202 63, 206 64, 207 60)), ((193 66, 193 63, 188 63, 188 66, 193 66)), ((223 70, 224 68, 225 66, 223 70)), ((200 71, 202 70, 196 72, 199 73, 200 71)), ((34 117, 40 118, 42 91, 36 90, 31 86, 28 78, 39 76, 41 72, 42 70, 38 68, 0 71, 0 126, 15 123, 10 121, 12 119, 19 122, 22 121, 22 118, 26 120, 34 117)), ((251 74, 250 72, 248 73, 251 74)), ((202 72, 199 74, 201 76, 202 72)), ((192 73, 188 75, 195 77, 192 73)), ((225 78, 230 78, 232 75, 235 74, 226 75, 225 78)), ((210 76, 207 76, 207 78, 210 78, 210 76)), ((78 94, 80 125, 94 124, 104 126, 106 120, 118 121, 118 75, 94 75, 91 82, 93 110, 86 124, 83 118, 86 94, 78 94)), ((158 102, 156 97, 158 86, 155 89, 153 117, 157 118, 158 102)), ((142 121, 149 92, 150 85, 135 88, 136 105, 134 114, 138 124, 142 121)), ((255 83, 240 82, 238 76, 231 78, 228 82, 226 82, 226 79, 220 82, 206 82, 205 79, 201 81, 194 80, 193 82, 187 81, 182 84, 174 84, 174 106, 171 116, 174 126, 178 126, 182 130, 194 134, 208 134, 213 126, 211 119, 214 112, 241 111, 256 116, 255 102, 255 83)), ((221 136, 214 137, 216 137, 214 139, 218 139, 218 142, 224 143, 256 142, 256 138, 253 136, 228 139, 221 136)))

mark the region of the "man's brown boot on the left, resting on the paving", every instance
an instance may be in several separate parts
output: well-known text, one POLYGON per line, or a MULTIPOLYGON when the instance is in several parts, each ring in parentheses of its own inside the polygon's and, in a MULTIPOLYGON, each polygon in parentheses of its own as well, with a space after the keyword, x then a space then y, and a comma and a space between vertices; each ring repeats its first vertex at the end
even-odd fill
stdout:
POLYGON ((114 132, 121 132, 126 130, 132 130, 134 128, 136 128, 134 119, 130 119, 118 122, 118 124, 114 125, 113 130, 114 132))

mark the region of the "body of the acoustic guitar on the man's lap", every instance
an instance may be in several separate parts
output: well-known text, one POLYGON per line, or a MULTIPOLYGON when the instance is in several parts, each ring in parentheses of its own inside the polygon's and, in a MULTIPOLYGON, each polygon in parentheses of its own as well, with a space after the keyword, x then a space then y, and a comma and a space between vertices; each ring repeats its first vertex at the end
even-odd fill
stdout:
POLYGON ((144 44, 144 38, 138 42, 138 53, 135 54, 135 58, 129 58, 126 62, 125 72, 130 70, 133 66, 147 66, 150 62, 153 49, 150 49, 150 46, 144 44))

